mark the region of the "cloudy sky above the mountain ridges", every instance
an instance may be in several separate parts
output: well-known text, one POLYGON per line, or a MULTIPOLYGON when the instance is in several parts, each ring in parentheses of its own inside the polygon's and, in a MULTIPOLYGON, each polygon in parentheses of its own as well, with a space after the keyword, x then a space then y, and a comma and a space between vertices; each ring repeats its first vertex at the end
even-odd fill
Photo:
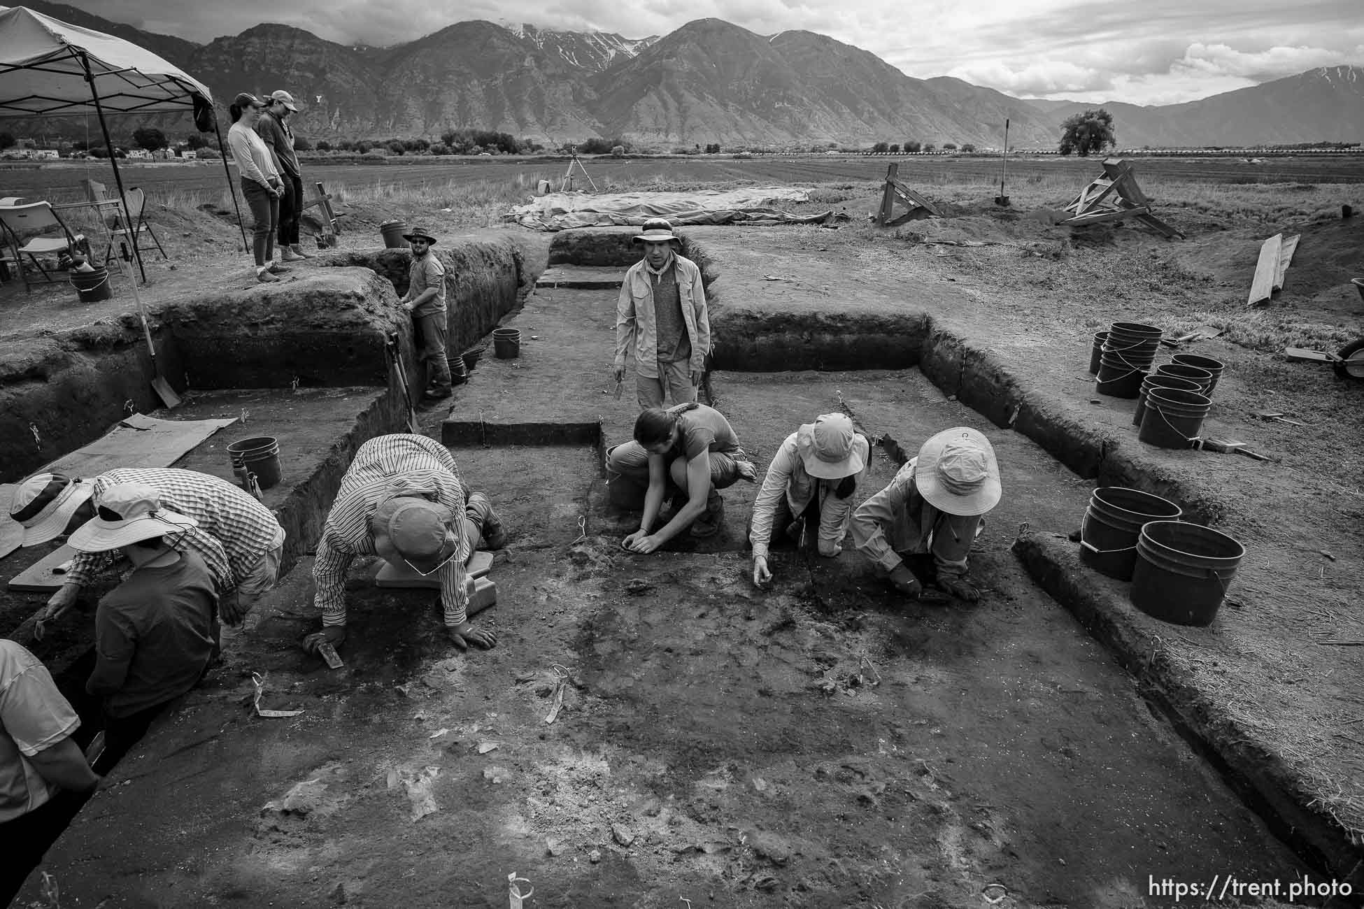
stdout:
POLYGON ((1191 101, 1312 67, 1364 64, 1361 0, 67 1, 191 41, 282 22, 344 44, 389 45, 466 19, 640 38, 715 16, 758 34, 820 31, 911 76, 1132 104, 1191 101))

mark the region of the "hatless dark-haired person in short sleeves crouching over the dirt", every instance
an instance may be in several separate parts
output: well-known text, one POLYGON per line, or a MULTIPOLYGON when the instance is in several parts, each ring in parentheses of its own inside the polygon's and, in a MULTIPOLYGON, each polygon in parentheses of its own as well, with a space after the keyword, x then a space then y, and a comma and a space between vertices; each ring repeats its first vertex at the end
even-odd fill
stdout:
POLYGON ((621 544, 640 553, 653 552, 687 527, 693 537, 715 536, 724 521, 720 489, 757 480, 730 421, 696 402, 644 410, 634 421, 634 442, 607 451, 607 469, 617 474, 612 482, 634 487, 636 500, 642 493, 640 529, 621 544), (666 497, 674 512, 651 533, 655 521, 663 521, 666 497))

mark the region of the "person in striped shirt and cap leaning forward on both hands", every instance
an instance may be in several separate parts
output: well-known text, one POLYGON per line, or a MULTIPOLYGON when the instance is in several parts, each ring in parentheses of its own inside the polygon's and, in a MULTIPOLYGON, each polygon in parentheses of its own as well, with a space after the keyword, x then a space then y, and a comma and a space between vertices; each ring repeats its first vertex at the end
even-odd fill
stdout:
POLYGON ((318 541, 312 576, 322 631, 303 649, 345 641, 345 574, 359 555, 376 555, 394 568, 441 581, 445 631, 460 650, 490 649, 498 636, 469 621, 464 566, 475 549, 501 549, 502 522, 481 492, 465 492, 450 451, 435 439, 394 433, 370 439, 341 477, 318 541))

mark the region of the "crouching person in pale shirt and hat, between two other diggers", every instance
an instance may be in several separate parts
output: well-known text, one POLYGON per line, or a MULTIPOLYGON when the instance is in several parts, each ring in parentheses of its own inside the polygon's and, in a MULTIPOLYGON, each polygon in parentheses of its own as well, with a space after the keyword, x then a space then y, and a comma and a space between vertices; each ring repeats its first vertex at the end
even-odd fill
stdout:
POLYGON ((753 583, 772 579, 771 546, 798 544, 806 529, 825 559, 843 551, 853 493, 866 478, 870 446, 847 414, 825 413, 792 432, 768 465, 753 502, 753 583))

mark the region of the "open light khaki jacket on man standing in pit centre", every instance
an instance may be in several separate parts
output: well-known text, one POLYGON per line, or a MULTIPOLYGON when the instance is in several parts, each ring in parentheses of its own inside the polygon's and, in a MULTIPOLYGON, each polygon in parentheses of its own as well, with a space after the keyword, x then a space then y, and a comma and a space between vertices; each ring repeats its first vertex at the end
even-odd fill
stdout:
MULTIPOLYGON (((692 341, 692 372, 705 371, 711 353, 711 316, 705 311, 705 288, 701 270, 690 259, 672 253, 672 274, 682 301, 682 319, 692 341)), ((640 260, 625 273, 621 298, 615 305, 615 368, 625 368, 625 357, 634 348, 634 371, 647 378, 659 375, 659 334, 653 318, 653 283, 640 260)))

